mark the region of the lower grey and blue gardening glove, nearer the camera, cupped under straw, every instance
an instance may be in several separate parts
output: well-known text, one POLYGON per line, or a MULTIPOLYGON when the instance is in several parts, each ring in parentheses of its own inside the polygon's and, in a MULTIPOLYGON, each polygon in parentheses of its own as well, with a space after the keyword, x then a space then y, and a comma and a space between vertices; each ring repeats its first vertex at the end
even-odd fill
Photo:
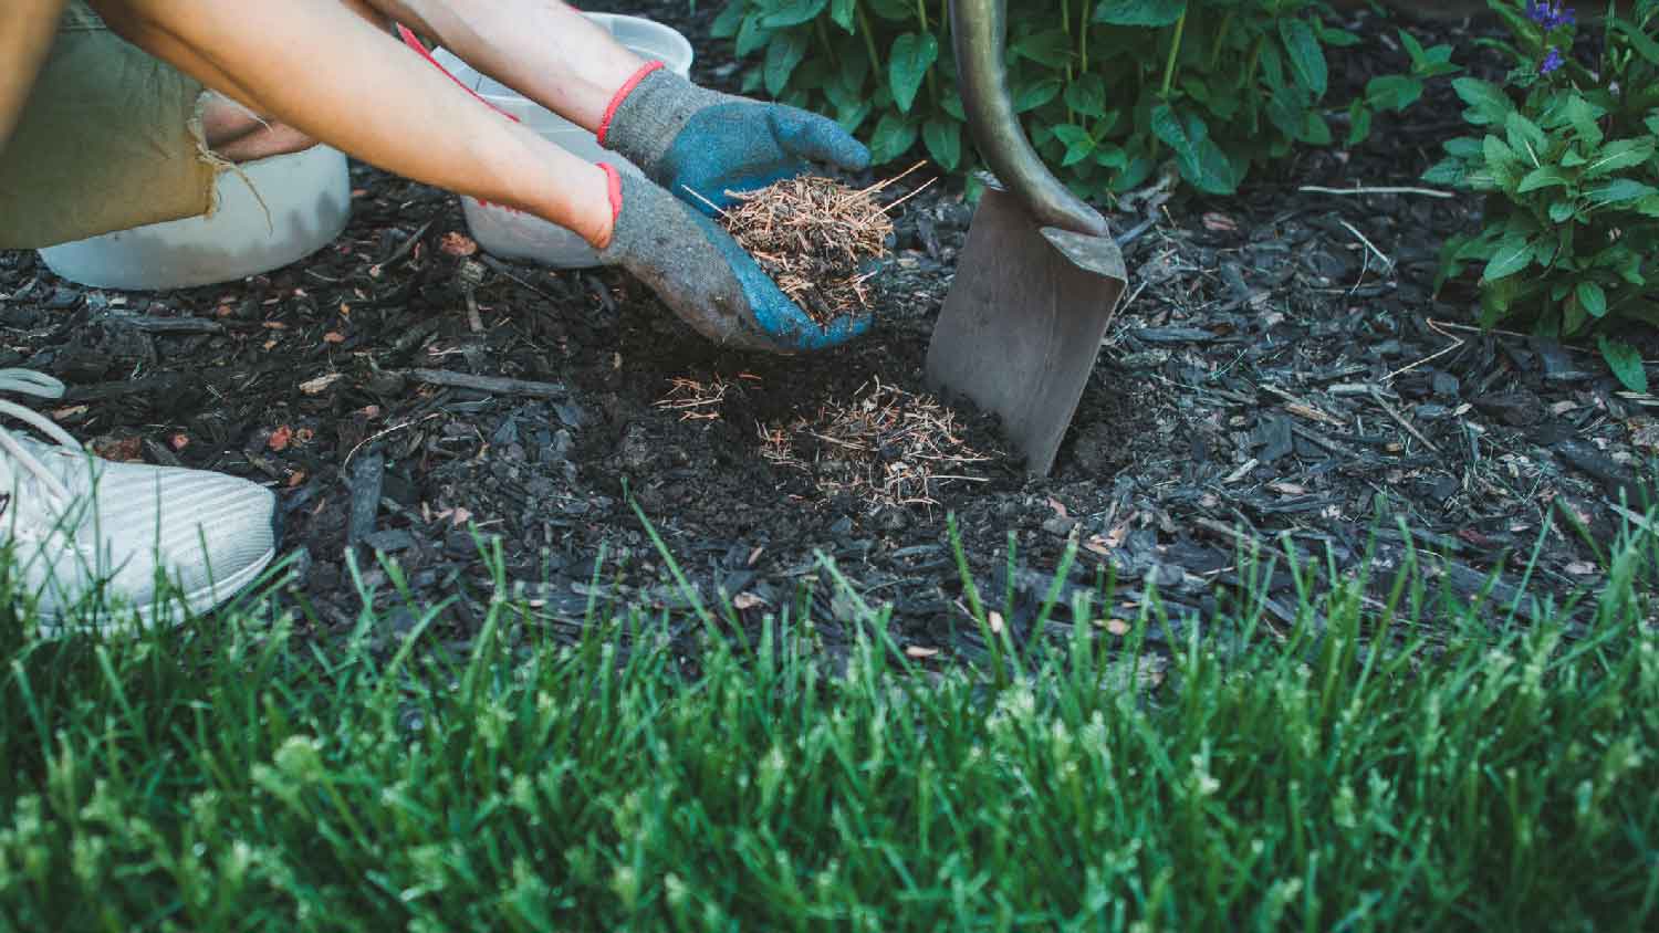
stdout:
POLYGON ((611 244, 599 250, 599 262, 632 272, 703 336, 793 353, 869 330, 869 315, 820 325, 713 220, 647 179, 599 167, 611 179, 612 210, 611 244))

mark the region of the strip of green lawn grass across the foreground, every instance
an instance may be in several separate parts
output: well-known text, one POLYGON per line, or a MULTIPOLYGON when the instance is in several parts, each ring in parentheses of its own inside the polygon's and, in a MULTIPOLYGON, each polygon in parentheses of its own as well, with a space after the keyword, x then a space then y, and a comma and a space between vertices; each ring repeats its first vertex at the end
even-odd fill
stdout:
POLYGON ((1415 575, 1287 635, 1243 600, 1155 688, 1156 610, 932 671, 879 610, 844 665, 795 613, 693 613, 695 658, 508 600, 460 653, 7 618, 0 928, 1651 928, 1656 554, 1571 625, 1425 618, 1415 575))

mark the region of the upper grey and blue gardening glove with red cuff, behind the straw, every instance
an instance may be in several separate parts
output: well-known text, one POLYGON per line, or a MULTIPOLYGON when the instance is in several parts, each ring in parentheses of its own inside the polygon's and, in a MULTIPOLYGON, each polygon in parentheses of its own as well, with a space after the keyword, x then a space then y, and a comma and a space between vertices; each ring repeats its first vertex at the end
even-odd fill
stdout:
POLYGON ((766 187, 810 162, 869 166, 869 149, 836 121, 698 88, 660 61, 611 98, 597 138, 703 214, 732 204, 728 191, 766 187))

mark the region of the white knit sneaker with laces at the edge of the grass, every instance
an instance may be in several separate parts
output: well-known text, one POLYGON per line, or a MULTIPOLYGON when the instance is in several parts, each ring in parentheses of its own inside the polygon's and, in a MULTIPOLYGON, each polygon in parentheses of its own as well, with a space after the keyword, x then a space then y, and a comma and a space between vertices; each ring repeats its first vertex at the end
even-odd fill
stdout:
MULTIPOLYGON (((0 391, 58 398, 63 383, 0 370, 0 391)), ((95 605, 129 607, 144 628, 179 616, 166 597, 206 612, 275 557, 269 489, 219 472, 98 459, 35 411, 0 399, 0 414, 53 441, 0 428, 0 545, 12 550, 13 593, 35 600, 43 631, 95 605)))

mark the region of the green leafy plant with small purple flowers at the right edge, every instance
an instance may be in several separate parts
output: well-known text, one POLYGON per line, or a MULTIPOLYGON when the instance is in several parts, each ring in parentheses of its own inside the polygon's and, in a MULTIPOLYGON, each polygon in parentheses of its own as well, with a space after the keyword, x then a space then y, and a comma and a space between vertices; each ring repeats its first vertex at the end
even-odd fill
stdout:
POLYGON ((1481 229, 1447 242, 1440 282, 1478 263, 1485 326, 1596 333, 1619 381, 1647 391, 1641 356, 1606 331, 1659 325, 1659 0, 1609 5, 1593 66, 1574 58, 1579 23, 1559 0, 1488 5, 1516 65, 1501 85, 1453 83, 1477 134, 1447 143, 1423 179, 1486 201, 1481 229))

